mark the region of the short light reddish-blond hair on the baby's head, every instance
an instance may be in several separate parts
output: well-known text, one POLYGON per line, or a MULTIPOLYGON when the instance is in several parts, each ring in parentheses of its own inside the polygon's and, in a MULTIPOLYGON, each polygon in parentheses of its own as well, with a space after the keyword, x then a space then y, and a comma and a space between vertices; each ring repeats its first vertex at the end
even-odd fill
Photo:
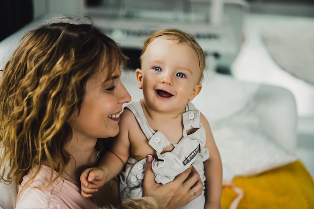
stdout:
POLYGON ((199 67, 201 69, 201 76, 199 79, 199 83, 202 83, 204 79, 204 70, 206 70, 206 59, 205 54, 199 43, 196 39, 191 35, 179 29, 164 29, 153 32, 148 38, 144 40, 144 46, 142 48, 140 62, 142 62, 142 56, 145 53, 148 45, 157 38, 163 37, 168 40, 176 40, 179 44, 186 43, 194 49, 199 58, 199 67))

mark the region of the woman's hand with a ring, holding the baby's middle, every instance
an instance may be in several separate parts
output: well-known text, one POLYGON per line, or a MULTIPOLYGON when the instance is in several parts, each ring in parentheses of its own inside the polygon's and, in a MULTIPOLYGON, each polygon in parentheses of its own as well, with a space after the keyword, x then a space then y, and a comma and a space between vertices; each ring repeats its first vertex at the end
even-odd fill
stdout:
POLYGON ((154 173, 151 168, 152 159, 151 155, 147 156, 143 183, 144 196, 156 198, 161 208, 181 208, 202 194, 203 183, 194 167, 190 167, 179 174, 172 182, 161 185, 154 180, 154 173))

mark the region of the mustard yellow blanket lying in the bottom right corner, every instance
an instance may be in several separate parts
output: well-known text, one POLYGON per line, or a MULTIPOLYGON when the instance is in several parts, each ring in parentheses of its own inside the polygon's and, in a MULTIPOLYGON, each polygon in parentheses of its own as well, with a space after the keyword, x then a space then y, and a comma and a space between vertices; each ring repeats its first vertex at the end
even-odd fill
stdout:
MULTIPOLYGON (((299 160, 251 177, 235 177, 233 184, 243 190, 239 209, 314 208, 314 182, 299 160)), ((221 206, 229 208, 238 194, 223 187, 221 206)))

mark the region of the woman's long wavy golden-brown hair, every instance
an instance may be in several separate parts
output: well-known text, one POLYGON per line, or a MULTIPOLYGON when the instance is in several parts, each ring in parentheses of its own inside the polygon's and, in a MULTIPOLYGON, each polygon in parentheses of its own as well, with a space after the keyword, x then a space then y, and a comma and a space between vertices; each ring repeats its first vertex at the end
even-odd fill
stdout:
POLYGON ((36 167, 27 187, 45 163, 52 183, 53 169, 60 175, 69 162, 68 119, 80 109, 86 81, 99 70, 110 76, 126 60, 92 23, 60 21, 27 32, 0 83, 0 180, 20 183, 36 167))

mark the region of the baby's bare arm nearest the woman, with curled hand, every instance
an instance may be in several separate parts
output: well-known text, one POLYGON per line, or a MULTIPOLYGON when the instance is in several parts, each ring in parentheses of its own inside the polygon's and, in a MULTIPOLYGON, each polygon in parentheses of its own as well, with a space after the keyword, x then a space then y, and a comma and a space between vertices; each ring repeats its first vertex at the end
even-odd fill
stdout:
POLYGON ((98 167, 87 168, 81 174, 81 194, 84 197, 91 197, 92 193, 97 192, 99 187, 119 174, 124 164, 127 162, 130 148, 128 139, 129 120, 127 117, 130 115, 123 113, 120 116, 120 131, 113 139, 110 151, 105 152, 98 167))

